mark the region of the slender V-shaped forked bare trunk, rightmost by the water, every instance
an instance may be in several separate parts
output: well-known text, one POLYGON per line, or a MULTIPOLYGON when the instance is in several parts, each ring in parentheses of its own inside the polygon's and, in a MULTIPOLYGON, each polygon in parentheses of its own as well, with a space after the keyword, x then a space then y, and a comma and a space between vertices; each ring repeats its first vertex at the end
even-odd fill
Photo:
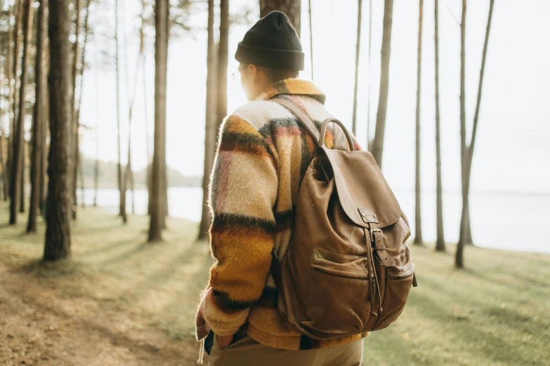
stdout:
MULTIPOLYGON (((464 244, 467 236, 467 226, 469 226, 469 194, 470 194, 470 176, 472 168, 473 149, 476 146, 476 135, 478 131, 478 118, 481 105, 481 90, 483 89, 483 74, 485 72, 485 61, 487 60, 487 46, 489 44, 489 34, 491 30, 492 10, 495 5, 495 0, 490 0, 489 15, 487 18, 487 30, 485 32, 485 43, 483 43, 483 57, 481 59, 481 69, 479 72, 479 85, 478 85, 478 99, 476 102, 476 114, 473 116, 473 128, 470 146, 466 147, 466 126, 464 123, 464 157, 462 165, 462 215, 460 219, 460 234, 459 242, 457 244, 457 255, 454 260, 454 264, 458 268, 464 267, 464 244)), ((461 24, 461 89, 464 88, 464 35, 466 33, 466 0, 462 0, 462 24, 461 24)), ((464 93, 461 92, 461 112, 463 111, 464 93)), ((465 108, 464 108, 465 109, 465 108)), ((461 132, 463 130, 462 121, 465 121, 466 117, 461 114, 461 132), (463 118, 464 117, 464 118, 463 118)))

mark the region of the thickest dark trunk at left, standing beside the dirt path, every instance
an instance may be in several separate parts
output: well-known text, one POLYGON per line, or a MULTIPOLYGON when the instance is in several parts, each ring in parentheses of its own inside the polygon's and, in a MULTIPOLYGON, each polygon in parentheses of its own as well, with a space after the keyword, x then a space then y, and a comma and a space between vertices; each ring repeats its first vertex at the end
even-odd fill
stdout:
POLYGON ((69 35, 70 0, 49 4, 48 35, 51 71, 48 77, 50 95, 50 154, 48 166, 48 203, 44 260, 55 261, 70 256, 70 171, 67 138, 72 133, 71 118, 71 53, 69 35))

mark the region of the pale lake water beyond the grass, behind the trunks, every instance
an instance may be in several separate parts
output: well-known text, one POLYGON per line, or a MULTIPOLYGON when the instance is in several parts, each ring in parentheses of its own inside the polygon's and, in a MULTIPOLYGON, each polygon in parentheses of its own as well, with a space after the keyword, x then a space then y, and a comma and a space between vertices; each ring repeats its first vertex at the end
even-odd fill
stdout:
MULTIPOLYGON (((168 191, 171 217, 199 222, 201 217, 202 189, 199 187, 173 187, 168 191)), ((136 189, 136 214, 147 214, 148 192, 136 189)), ((401 209, 409 218, 414 231, 414 192, 395 191, 401 209)), ((80 198, 80 193, 79 193, 80 198)), ((422 199, 422 230, 424 241, 436 241, 436 195, 426 191, 422 199)), ((99 189, 98 205, 108 212, 118 212, 117 189, 99 189)), ((84 202, 93 203, 93 189, 84 189, 84 202)), ((128 192, 127 212, 131 212, 131 193, 128 192)), ((476 193, 470 196, 472 236, 476 245, 486 248, 550 252, 548 238, 550 194, 476 193)), ((443 194, 443 221, 445 241, 458 240, 461 214, 460 192, 443 194)))

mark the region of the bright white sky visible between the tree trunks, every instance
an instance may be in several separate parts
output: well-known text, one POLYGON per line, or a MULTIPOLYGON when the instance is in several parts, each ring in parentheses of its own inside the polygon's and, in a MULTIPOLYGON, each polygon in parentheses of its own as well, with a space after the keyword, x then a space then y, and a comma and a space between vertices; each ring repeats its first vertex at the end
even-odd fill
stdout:
MULTIPOLYGON (((112 1, 114 4, 114 0, 112 1)), ((119 0, 124 14, 129 60, 122 60, 121 117, 126 156, 128 97, 124 78, 132 79, 138 54, 138 2, 119 0), (126 8, 124 8, 126 5, 126 8), (129 65, 126 67, 125 65, 129 65), (126 70, 126 71, 124 71, 126 70), (128 76, 125 76, 125 75, 128 76)), ((356 0, 313 0, 314 81, 327 94, 327 108, 351 128, 353 77, 357 26, 356 0)), ((363 1, 358 140, 365 145, 367 131, 368 0, 363 1)), ((473 157, 472 189, 475 191, 545 191, 550 189, 550 1, 495 1, 490 33, 483 98, 480 109, 476 151, 473 157)), ((233 0, 230 12, 257 1, 233 0)), ((376 121, 380 48, 384 1, 372 1, 371 121, 376 121)), ((489 0, 469 1, 466 20, 466 123, 471 126, 476 107, 479 69, 487 22, 489 0)), ((116 89, 114 63, 105 65, 98 50, 114 54, 114 42, 105 38, 112 32, 114 6, 96 11, 96 41, 86 57, 91 68, 84 79, 82 123, 98 123, 100 158, 117 156, 116 89), (112 20, 109 19, 112 18, 112 20), (103 64, 100 67, 99 64, 103 64)), ((395 0, 391 42, 390 87, 384 147, 384 174, 395 188, 414 187, 414 126, 417 91, 418 1, 395 0)), ((302 4, 302 43, 306 52, 303 79, 310 79, 308 1, 302 4)), ((259 11, 257 11, 259 13, 259 11)), ((440 0, 440 101, 442 123, 443 184, 459 189, 459 76, 461 1, 440 0)), ((122 16, 121 16, 122 18, 122 16)), ((207 13, 192 16, 193 25, 206 27, 207 13)), ((228 67, 228 111, 246 102, 244 93, 230 73, 237 69, 233 58, 238 41, 249 26, 230 31, 228 67)), ((121 31, 122 32, 122 31, 121 31)), ((185 175, 202 175, 204 156, 204 95, 206 83, 206 31, 195 36, 173 37, 169 48, 167 149, 172 168, 185 175)), ((146 163, 145 109, 148 136, 152 140, 154 98, 154 35, 148 34, 147 88, 143 95, 140 76, 136 108, 133 111, 132 163, 140 169, 146 163), (144 102, 146 100, 146 102, 144 102), (146 104, 146 108, 145 107, 146 104)), ((424 1, 422 53, 421 169, 422 185, 435 187, 435 102, 433 0, 424 1)), ((121 46, 121 53, 124 48, 121 46)), ((122 57, 122 56, 121 56, 122 57)), ((152 149, 152 145, 150 145, 152 149)), ((95 130, 84 132, 82 149, 95 156, 95 130)), ((124 159, 125 160, 125 159, 124 159)))

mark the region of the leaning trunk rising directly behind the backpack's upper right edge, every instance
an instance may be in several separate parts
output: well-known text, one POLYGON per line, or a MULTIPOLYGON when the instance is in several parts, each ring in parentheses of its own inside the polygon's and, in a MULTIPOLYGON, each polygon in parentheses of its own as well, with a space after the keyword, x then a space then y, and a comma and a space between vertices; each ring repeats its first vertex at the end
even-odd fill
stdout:
POLYGON ((380 60, 380 93, 377 112, 377 127, 372 143, 372 154, 382 168, 384 151, 384 131, 386 130, 386 109, 388 107, 388 87, 390 83, 391 23, 393 18, 393 0, 384 0, 384 31, 380 60))

